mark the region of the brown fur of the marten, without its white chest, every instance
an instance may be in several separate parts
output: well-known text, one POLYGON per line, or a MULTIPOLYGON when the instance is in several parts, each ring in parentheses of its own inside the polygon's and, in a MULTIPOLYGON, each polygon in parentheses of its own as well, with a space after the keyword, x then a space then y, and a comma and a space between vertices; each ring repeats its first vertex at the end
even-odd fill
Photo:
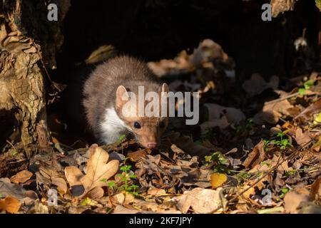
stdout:
POLYGON ((136 58, 121 56, 99 65, 89 76, 83 90, 86 118, 96 138, 101 140, 103 135, 101 123, 106 108, 113 107, 119 118, 126 124, 127 129, 135 133, 141 145, 146 147, 148 142, 158 142, 168 125, 168 118, 124 117, 121 113, 124 103, 116 103, 116 91, 119 86, 123 86, 127 91, 136 93, 136 95, 138 86, 144 86, 145 93, 155 91, 161 94, 162 91, 161 83, 158 82, 156 76, 145 63, 136 58), (141 124, 140 129, 133 128, 135 121, 141 124), (165 128, 159 128, 161 121, 164 121, 165 128))

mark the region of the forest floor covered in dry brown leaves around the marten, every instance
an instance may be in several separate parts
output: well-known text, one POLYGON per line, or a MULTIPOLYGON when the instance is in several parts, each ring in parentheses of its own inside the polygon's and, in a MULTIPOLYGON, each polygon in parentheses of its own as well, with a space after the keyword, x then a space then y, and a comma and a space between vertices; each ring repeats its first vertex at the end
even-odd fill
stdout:
POLYGON ((210 40, 148 66, 200 93, 198 125, 170 120, 158 150, 123 137, 79 148, 52 132, 53 152, 0 179, 0 212, 321 213, 320 73, 239 83, 210 40))

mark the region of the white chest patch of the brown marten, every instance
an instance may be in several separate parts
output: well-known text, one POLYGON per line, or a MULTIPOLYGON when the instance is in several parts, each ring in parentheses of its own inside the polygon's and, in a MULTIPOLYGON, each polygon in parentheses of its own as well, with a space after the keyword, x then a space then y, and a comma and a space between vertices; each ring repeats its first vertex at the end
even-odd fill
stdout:
POLYGON ((119 118, 115 108, 107 108, 101 122, 101 141, 106 144, 116 142, 126 129, 125 123, 119 118))

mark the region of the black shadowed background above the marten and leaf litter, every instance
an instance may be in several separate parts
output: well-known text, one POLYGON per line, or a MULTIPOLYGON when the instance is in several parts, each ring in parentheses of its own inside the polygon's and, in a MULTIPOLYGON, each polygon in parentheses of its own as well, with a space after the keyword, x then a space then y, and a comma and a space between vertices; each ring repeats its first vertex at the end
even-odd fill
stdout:
POLYGON ((294 11, 262 21, 262 4, 269 1, 71 1, 63 25, 65 41, 58 68, 81 62, 101 45, 146 61, 173 58, 193 51, 211 38, 235 59, 240 81, 258 72, 265 78, 309 73, 319 61, 320 11, 313 0, 301 0, 294 11), (294 63, 293 42, 306 29, 311 66, 294 63), (295 64, 295 67, 293 67, 295 64))

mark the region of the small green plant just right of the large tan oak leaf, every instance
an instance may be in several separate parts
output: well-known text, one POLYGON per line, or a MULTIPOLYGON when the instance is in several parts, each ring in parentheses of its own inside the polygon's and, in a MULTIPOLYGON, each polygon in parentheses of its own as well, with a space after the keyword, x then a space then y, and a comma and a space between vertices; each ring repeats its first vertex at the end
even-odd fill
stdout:
MULTIPOLYGON (((128 182, 130 180, 136 179, 136 175, 131 175, 129 171, 131 170, 131 165, 123 165, 120 168, 121 171, 123 171, 123 174, 118 174, 116 175, 117 177, 120 177, 120 181, 123 182, 123 185, 120 187, 116 187, 116 182, 115 181, 110 181, 108 182, 108 187, 110 187, 112 190, 116 188, 118 191, 125 190, 128 193, 131 193, 133 195, 138 195, 140 192, 138 191, 138 185, 129 185, 128 182)), ((106 179, 101 180, 102 182, 107 182, 106 179)))

